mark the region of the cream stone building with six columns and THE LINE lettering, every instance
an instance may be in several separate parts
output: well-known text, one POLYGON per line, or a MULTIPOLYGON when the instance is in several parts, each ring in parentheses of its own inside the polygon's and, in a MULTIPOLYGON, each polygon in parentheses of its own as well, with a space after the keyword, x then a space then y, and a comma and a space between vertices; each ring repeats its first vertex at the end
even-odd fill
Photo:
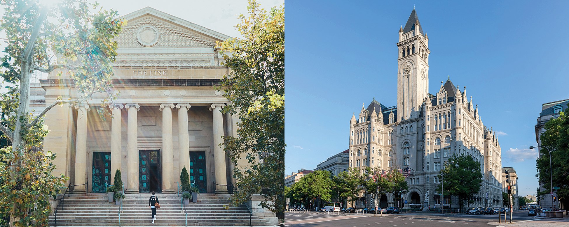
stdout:
MULTIPOLYGON (((229 69, 215 43, 229 36, 150 7, 124 18, 113 63, 112 92, 120 95, 104 107, 113 117, 97 115, 105 95, 46 115, 44 146, 57 153, 54 174, 69 176, 69 184, 87 183, 75 188, 79 194, 104 192, 116 170, 127 194, 173 194, 186 167, 201 192, 228 193, 215 185, 234 182, 233 165, 218 144, 221 136, 236 136, 238 118, 220 112, 228 100, 216 87, 229 69)), ((40 84, 47 104, 81 95, 65 71, 40 84)))

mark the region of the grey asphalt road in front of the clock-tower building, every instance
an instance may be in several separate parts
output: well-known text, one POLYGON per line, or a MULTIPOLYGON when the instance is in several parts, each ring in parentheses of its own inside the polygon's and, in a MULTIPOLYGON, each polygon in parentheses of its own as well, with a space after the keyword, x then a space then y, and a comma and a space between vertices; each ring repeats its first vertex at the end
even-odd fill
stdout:
MULTIPOLYGON (((527 211, 514 211, 513 221, 534 221, 533 217, 527 216, 527 211)), ((504 217, 502 216, 502 221, 504 217)), ((366 215, 346 215, 341 213, 321 213, 321 212, 286 212, 284 225, 291 227, 310 226, 347 226, 347 227, 372 227, 372 226, 491 226, 488 222, 497 222, 498 215, 440 215, 437 213, 408 213, 400 215, 373 216, 366 215)), ((508 221, 510 221, 508 215, 508 221)))

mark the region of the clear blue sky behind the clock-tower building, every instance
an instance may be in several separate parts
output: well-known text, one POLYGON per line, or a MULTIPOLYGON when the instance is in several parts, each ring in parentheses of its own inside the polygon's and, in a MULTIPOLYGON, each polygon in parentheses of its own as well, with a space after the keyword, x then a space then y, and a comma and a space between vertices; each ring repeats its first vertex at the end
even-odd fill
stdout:
POLYGON ((569 98, 569 2, 287 1, 286 174, 348 148, 349 120, 397 104, 398 31, 413 6, 429 37, 429 92, 450 76, 500 136, 519 195, 535 194, 541 104, 569 98))

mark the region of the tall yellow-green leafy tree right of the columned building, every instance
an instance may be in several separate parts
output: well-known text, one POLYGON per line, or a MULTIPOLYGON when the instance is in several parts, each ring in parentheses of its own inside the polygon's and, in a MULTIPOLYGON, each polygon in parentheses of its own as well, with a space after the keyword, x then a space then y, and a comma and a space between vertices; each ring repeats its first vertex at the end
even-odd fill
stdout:
POLYGON ((247 9, 236 26, 242 37, 217 44, 223 65, 231 69, 221 81, 229 100, 223 112, 240 119, 238 135, 224 137, 224 150, 236 165, 238 190, 231 205, 260 193, 260 205, 284 218, 284 6, 267 12, 249 0, 247 9), (248 166, 238 165, 241 157, 248 166))

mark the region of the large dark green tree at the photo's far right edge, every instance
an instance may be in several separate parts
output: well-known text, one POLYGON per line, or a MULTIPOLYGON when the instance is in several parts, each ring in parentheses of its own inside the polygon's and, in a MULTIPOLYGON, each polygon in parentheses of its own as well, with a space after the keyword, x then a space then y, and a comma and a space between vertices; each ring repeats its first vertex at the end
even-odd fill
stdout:
MULTIPOLYGON (((551 171, 553 187, 559 187, 557 196, 563 207, 569 206, 569 108, 559 113, 545 123, 545 132, 541 134, 541 145, 549 148, 551 152, 551 171)), ((547 149, 539 149, 540 157, 535 163, 539 183, 545 184, 545 190, 538 192, 537 196, 550 192, 550 160, 547 149)), ((538 189, 539 191, 539 189, 538 189)), ((550 196, 550 195, 548 195, 550 196)))

